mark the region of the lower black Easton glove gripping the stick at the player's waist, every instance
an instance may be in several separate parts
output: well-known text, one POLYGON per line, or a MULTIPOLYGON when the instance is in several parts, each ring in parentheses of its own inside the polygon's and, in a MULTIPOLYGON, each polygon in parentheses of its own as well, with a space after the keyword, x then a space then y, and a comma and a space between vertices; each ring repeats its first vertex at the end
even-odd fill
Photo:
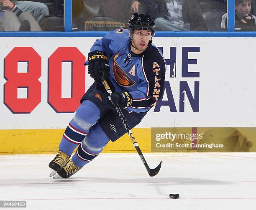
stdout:
POLYGON ((109 94, 105 92, 102 95, 102 103, 108 107, 108 109, 115 109, 115 106, 111 103, 109 96, 113 102, 117 102, 120 109, 126 109, 127 107, 131 106, 133 101, 133 96, 126 91, 117 92, 114 94, 109 94))

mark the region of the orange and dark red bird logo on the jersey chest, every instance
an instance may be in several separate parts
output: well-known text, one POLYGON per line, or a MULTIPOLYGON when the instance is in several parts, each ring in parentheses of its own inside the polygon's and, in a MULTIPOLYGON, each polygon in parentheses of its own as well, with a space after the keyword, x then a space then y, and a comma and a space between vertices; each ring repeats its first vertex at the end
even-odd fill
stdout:
POLYGON ((113 59, 113 73, 115 76, 115 80, 120 86, 124 87, 130 87, 135 84, 135 81, 133 81, 127 73, 118 65, 118 63, 115 61, 115 59, 118 58, 118 53, 115 54, 113 59))

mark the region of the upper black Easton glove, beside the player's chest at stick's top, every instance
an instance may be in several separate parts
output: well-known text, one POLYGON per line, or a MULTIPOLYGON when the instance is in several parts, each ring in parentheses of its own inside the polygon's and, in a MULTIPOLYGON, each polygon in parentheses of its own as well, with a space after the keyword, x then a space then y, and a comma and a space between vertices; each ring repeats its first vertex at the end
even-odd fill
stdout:
POLYGON ((106 53, 92 51, 88 54, 88 65, 88 73, 97 83, 101 83, 101 75, 108 79, 110 68, 106 53))

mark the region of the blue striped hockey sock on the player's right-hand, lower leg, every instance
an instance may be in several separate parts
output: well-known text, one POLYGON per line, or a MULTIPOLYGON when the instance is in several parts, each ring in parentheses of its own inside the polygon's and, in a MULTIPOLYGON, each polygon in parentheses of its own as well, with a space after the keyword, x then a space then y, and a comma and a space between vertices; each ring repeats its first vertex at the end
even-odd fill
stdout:
POLYGON ((77 148, 77 152, 72 157, 73 163, 77 167, 82 167, 92 161, 102 151, 109 142, 108 136, 96 123, 88 133, 87 137, 77 148))

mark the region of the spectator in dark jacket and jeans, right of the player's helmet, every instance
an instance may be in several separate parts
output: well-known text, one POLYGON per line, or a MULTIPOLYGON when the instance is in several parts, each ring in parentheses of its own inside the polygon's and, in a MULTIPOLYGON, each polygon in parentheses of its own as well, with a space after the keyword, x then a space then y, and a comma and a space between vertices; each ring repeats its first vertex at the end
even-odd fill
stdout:
POLYGON ((133 0, 131 10, 151 14, 156 30, 207 30, 196 0, 133 0))

